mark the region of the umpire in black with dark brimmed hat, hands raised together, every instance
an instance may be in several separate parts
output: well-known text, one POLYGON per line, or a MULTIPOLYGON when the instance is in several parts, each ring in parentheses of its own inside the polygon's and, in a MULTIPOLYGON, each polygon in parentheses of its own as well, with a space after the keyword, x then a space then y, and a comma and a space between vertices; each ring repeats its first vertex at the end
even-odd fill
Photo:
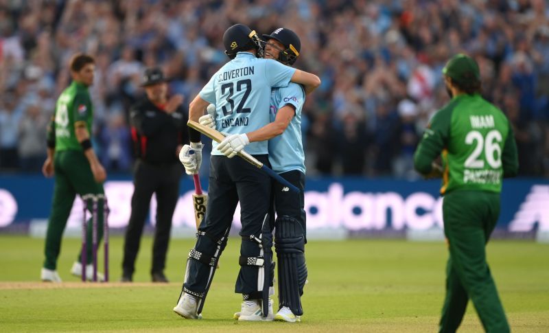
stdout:
POLYGON ((137 161, 134 168, 132 214, 124 239, 121 282, 132 282, 135 259, 153 193, 156 193, 156 229, 150 273, 152 282, 168 282, 164 266, 172 216, 179 197, 182 170, 178 154, 187 141, 187 115, 181 108, 181 95, 167 98, 166 82, 161 69, 146 69, 142 82, 146 97, 130 108, 132 141, 137 161))

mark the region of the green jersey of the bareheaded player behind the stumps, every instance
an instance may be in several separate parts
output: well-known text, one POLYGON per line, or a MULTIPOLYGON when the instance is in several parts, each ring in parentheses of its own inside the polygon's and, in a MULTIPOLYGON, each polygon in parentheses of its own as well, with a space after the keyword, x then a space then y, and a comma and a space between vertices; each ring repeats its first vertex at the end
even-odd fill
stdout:
POLYGON ((93 108, 88 88, 73 81, 59 96, 50 124, 48 139, 55 137, 56 151, 82 150, 76 139, 75 126, 83 122, 91 133, 93 108))

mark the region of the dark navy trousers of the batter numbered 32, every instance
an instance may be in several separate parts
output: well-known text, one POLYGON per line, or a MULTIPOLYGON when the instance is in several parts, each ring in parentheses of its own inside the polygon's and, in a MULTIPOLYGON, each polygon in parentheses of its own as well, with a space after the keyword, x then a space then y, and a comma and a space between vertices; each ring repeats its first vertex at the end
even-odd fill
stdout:
MULTIPOLYGON (((254 155, 254 157, 261 163, 270 165, 268 155, 254 155)), ((270 189, 269 176, 240 157, 229 159, 213 155, 210 163, 207 213, 200 224, 200 231, 204 231, 211 238, 222 238, 231 228, 233 215, 240 200, 240 221, 242 222, 240 236, 259 237, 270 206, 270 189)), ((202 247, 200 242, 199 237, 195 246, 198 251, 202 247)), ((249 253, 242 246, 241 255, 248 257, 259 255, 259 246, 256 246, 254 253, 249 253)), ((196 293, 205 292, 209 280, 209 266, 190 260, 188 271, 185 288, 196 293)), ((245 295, 257 292, 257 274, 257 266, 241 266, 235 292, 245 295)))

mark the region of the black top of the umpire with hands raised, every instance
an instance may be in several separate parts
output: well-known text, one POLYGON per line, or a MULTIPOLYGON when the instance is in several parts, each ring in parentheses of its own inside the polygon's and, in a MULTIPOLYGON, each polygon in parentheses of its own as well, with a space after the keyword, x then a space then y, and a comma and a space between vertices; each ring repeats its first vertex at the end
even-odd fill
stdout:
POLYGON ((130 125, 137 159, 151 165, 178 163, 177 146, 187 142, 187 115, 179 106, 173 113, 145 97, 130 108, 130 125))

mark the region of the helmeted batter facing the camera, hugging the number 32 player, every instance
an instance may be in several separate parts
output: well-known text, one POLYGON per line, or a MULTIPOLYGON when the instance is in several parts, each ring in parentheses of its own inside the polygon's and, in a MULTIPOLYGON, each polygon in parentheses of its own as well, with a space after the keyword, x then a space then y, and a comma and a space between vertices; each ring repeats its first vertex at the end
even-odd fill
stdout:
MULTIPOLYGON (((283 27, 271 34, 264 34, 266 40, 264 58, 277 60, 284 65, 293 65, 301 51, 299 37, 283 27)), ((305 103, 305 91, 301 85, 290 82, 288 87, 271 91, 270 124, 246 133, 250 142, 268 141, 269 162, 272 170, 295 185, 301 192, 294 193, 274 181, 272 200, 277 219, 275 227, 275 249, 277 251, 279 287, 279 311, 275 320, 295 323, 301 321, 303 308, 301 295, 307 280, 305 263, 305 153, 301 141, 301 110, 305 103)), ((200 117, 200 124, 215 126, 212 115, 200 117)), ((223 150, 223 145, 218 146, 223 150)), ((227 157, 233 156, 233 148, 224 149, 227 157)), ((271 216, 271 221, 274 216, 271 216)), ((246 302, 244 302, 246 303, 246 302)), ((240 318, 242 312, 236 312, 240 318)))

